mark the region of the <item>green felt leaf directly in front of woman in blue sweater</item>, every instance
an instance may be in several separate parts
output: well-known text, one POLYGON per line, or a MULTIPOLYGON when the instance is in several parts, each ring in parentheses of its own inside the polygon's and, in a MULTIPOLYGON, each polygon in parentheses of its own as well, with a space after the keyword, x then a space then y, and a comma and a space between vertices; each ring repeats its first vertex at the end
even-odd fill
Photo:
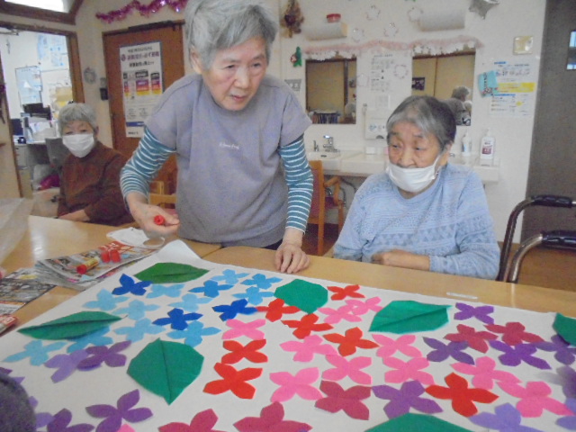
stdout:
POLYGON ((403 334, 435 330, 448 322, 449 307, 413 301, 390 302, 374 316, 370 331, 403 334))

